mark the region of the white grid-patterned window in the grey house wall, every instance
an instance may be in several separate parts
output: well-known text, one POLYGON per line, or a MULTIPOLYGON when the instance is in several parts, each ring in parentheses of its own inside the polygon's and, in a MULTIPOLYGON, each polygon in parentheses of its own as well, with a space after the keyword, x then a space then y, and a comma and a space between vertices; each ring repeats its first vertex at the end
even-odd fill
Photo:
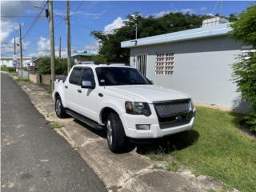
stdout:
POLYGON ((174 52, 157 53, 155 74, 170 75, 174 73, 174 52))

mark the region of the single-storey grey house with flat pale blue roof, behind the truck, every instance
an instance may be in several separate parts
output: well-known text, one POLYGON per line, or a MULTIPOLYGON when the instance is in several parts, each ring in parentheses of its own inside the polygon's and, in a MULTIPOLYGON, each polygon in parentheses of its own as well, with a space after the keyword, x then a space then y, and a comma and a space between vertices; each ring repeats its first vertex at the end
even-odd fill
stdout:
POLYGON ((230 23, 204 22, 202 27, 121 42, 130 48, 135 66, 154 84, 190 94, 194 102, 247 111, 232 81, 231 66, 248 46, 228 35, 230 23))

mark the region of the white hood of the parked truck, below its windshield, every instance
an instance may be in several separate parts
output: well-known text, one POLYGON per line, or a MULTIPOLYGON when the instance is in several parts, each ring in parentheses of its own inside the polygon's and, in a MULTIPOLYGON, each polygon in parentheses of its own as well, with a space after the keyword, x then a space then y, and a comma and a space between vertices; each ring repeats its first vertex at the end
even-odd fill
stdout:
POLYGON ((188 94, 155 85, 106 86, 106 92, 118 98, 122 95, 122 98, 132 102, 152 103, 190 98, 188 94))

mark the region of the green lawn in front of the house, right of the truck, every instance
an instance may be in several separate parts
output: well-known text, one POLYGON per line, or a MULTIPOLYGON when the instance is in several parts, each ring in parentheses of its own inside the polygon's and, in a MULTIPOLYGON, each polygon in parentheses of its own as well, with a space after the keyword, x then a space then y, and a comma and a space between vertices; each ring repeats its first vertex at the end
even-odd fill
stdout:
MULTIPOLYGON (((171 135, 159 147, 142 149, 157 160, 170 156, 195 174, 205 174, 223 182, 227 188, 256 191, 256 138, 238 129, 238 114, 197 107, 194 129, 171 135)), ((169 158, 168 158, 169 157, 169 158)), ((171 162, 170 162, 171 163, 171 162)), ((170 170, 175 166, 170 166, 170 170)))

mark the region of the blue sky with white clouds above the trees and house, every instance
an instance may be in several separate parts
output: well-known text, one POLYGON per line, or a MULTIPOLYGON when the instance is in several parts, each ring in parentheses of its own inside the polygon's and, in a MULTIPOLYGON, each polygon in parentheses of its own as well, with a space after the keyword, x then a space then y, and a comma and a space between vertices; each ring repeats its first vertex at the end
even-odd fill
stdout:
MULTIPOLYGON (((35 20, 43 1, 1 0, 1 57, 13 57, 14 38, 18 42, 18 25, 22 24, 22 48, 25 57, 50 54, 49 25, 44 11, 35 20), (35 21, 35 22, 34 22, 35 21)), ((98 42, 90 31, 112 33, 123 25, 127 14, 140 12, 143 16, 161 17, 170 12, 190 14, 238 14, 253 5, 250 1, 70 1, 71 50, 97 53, 98 42)), ((46 6, 47 7, 47 6, 46 6)), ((62 56, 66 56, 66 1, 54 1, 54 42, 58 54, 62 38, 62 56)), ((17 47, 19 54, 19 47, 17 47)))

